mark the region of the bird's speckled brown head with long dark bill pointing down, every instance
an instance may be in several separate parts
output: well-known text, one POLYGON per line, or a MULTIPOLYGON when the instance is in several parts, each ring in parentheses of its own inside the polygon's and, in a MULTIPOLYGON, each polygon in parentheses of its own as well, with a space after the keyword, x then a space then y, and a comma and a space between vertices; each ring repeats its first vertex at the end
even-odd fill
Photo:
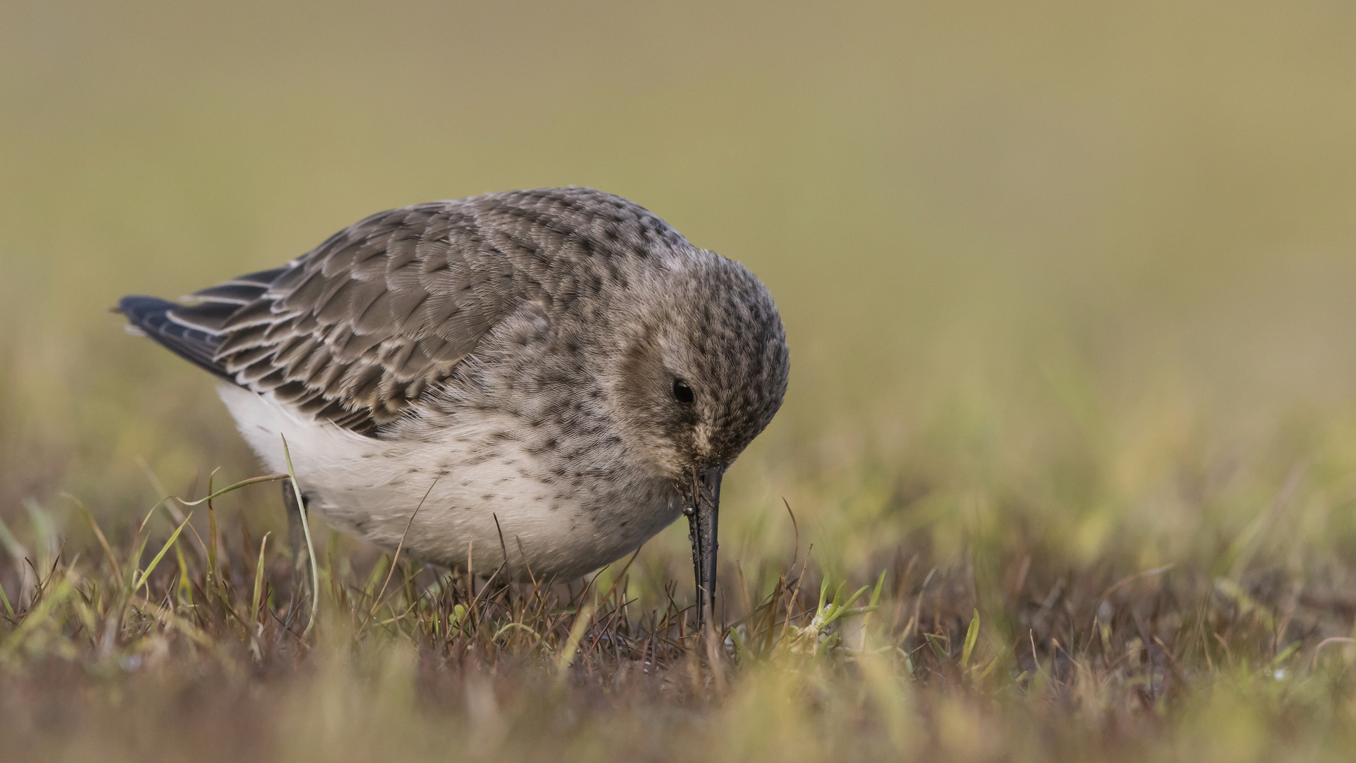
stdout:
POLYGON ((700 627, 715 611, 721 475, 781 407, 786 335, 758 278, 711 251, 664 257, 629 286, 610 387, 628 449, 683 498, 700 627))

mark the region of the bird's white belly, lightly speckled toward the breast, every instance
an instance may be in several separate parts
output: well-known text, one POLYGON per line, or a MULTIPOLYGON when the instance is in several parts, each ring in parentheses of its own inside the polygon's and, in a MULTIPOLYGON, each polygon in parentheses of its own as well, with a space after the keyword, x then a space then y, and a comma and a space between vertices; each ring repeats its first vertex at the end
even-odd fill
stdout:
POLYGON ((218 388, 240 433, 275 472, 282 437, 311 508, 338 528, 414 558, 513 577, 578 576, 640 547, 679 516, 655 490, 631 505, 584 505, 542 479, 518 443, 488 443, 492 421, 435 440, 377 440, 294 414, 271 398, 218 388), (494 458, 487 458, 492 455, 494 458), (620 517, 620 519, 618 519, 620 517))

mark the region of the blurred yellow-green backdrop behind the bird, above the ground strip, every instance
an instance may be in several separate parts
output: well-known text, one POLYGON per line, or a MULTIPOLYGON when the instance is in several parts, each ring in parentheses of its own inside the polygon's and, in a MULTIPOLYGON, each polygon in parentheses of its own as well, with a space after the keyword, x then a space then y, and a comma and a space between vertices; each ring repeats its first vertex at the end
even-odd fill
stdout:
POLYGON ((791 555, 785 497, 829 566, 1212 559, 1292 475, 1265 550, 1353 562, 1353 41, 1341 1, 0 3, 0 517, 259 472, 121 295, 582 185, 781 308, 735 558, 791 555))

